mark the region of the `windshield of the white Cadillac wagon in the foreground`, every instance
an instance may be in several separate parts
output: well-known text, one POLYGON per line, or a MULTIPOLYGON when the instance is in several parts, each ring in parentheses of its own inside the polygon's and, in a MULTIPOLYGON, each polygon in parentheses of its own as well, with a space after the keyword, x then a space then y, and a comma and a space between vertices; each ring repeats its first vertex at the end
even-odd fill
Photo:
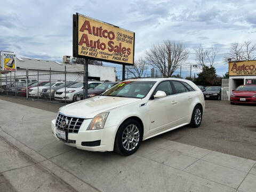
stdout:
POLYGON ((121 82, 102 95, 141 99, 146 97, 155 83, 154 81, 121 82))

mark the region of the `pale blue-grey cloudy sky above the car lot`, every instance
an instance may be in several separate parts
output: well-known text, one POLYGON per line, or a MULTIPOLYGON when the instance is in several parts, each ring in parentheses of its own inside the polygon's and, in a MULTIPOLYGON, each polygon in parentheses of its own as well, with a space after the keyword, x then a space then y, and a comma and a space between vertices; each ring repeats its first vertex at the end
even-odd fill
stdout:
MULTIPOLYGON (((199 44, 215 46, 220 53, 218 75, 228 71, 222 53, 228 52, 230 43, 256 43, 256 1, 1 0, 1 7, 0 50, 19 57, 61 61, 62 55, 71 55, 76 12, 134 31, 135 59, 166 39, 185 44, 191 53, 199 44)), ((195 63, 194 54, 189 55, 190 63, 195 63)), ((121 75, 121 65, 111 66, 121 75)), ((188 68, 182 71, 183 77, 189 75, 188 68)))

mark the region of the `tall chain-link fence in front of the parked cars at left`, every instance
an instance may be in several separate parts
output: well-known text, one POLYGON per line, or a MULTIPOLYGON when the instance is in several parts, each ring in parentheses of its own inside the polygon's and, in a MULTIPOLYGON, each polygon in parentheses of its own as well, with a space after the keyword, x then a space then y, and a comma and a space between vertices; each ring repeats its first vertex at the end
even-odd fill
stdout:
MULTIPOLYGON (((84 71, 67 70, 66 66, 58 69, 17 69, 17 71, 2 71, 0 77, 0 93, 7 97, 31 98, 51 102, 73 102, 76 94, 83 92, 84 71)), ((97 79, 88 89, 99 85, 97 79)))

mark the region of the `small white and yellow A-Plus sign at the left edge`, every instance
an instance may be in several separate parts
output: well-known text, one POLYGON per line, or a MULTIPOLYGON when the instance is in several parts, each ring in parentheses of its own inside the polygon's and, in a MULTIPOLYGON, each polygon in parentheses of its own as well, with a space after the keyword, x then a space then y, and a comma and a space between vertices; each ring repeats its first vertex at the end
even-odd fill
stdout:
POLYGON ((2 70, 16 71, 16 55, 11 53, 2 53, 2 70))

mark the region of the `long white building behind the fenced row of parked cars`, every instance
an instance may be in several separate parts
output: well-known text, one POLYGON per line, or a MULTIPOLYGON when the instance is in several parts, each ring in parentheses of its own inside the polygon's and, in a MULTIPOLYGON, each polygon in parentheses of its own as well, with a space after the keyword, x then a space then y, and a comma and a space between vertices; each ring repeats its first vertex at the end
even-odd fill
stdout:
MULTIPOLYGON (((63 60, 66 57, 63 57, 63 60)), ((7 73, 7 78, 16 79, 28 78, 38 81, 83 81, 84 65, 67 62, 49 61, 42 59, 16 58, 17 71, 7 73), (66 66, 66 73, 65 73, 66 66), (50 72, 51 71, 51 72, 50 72)), ((5 82, 5 74, 2 74, 2 82, 5 82)), ((88 65, 88 78, 98 81, 115 81, 115 67, 88 65)), ((9 82, 9 81, 8 81, 9 82)))

